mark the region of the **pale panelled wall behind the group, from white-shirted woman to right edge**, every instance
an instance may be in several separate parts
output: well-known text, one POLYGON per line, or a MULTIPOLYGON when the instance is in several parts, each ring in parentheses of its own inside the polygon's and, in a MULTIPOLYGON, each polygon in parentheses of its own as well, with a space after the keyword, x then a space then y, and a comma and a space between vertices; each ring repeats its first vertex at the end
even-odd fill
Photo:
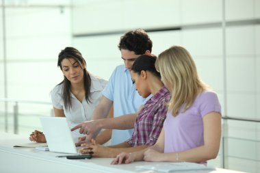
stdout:
MULTIPOLYGON (((108 79, 122 64, 120 36, 143 28, 153 40, 155 55, 174 44, 190 51, 201 79, 218 92, 223 116, 260 119, 259 0, 225 1, 225 38, 221 0, 77 0, 73 6, 73 45, 86 55, 94 74, 108 79)), ((225 167, 259 172, 259 122, 226 122, 225 167)), ((209 165, 222 165, 221 151, 209 165)))

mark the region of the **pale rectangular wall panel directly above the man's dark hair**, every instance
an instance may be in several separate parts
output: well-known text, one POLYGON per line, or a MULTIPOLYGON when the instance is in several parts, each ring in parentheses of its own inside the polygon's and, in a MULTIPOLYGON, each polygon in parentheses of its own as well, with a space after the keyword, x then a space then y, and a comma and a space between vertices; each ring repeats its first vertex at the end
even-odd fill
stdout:
POLYGON ((131 28, 161 28, 180 25, 181 1, 132 0, 123 1, 123 25, 131 28))

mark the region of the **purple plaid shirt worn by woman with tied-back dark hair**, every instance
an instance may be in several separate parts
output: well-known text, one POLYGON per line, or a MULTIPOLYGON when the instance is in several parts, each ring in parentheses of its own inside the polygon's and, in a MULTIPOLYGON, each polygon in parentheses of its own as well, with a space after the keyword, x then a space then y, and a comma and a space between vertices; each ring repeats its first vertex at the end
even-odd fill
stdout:
POLYGON ((164 125, 168 111, 166 103, 170 98, 170 92, 164 86, 144 104, 135 119, 133 135, 126 141, 130 146, 155 144, 164 125))

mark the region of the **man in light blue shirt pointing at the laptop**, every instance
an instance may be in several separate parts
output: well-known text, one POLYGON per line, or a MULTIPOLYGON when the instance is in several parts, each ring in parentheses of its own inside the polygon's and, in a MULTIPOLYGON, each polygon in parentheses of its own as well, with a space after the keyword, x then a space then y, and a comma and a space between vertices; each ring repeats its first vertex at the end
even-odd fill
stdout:
POLYGON ((96 137, 101 129, 113 129, 112 145, 125 142, 133 133, 133 124, 145 101, 135 90, 129 70, 140 55, 151 55, 153 42, 142 29, 127 32, 120 38, 118 49, 125 63, 117 66, 103 92, 101 102, 94 110, 92 120, 72 129, 87 134, 87 139, 96 137), (114 118, 106 118, 114 104, 114 118))

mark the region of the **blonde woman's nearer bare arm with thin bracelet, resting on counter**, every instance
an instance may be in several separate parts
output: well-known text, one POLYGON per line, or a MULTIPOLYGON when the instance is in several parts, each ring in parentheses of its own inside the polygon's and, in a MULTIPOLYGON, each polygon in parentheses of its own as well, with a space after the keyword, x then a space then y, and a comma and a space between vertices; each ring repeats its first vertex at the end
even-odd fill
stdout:
POLYGON ((221 115, 211 112, 203 117, 204 145, 182 152, 155 153, 148 151, 144 153, 145 161, 187 161, 202 162, 215 159, 218 156, 221 138, 221 115))

